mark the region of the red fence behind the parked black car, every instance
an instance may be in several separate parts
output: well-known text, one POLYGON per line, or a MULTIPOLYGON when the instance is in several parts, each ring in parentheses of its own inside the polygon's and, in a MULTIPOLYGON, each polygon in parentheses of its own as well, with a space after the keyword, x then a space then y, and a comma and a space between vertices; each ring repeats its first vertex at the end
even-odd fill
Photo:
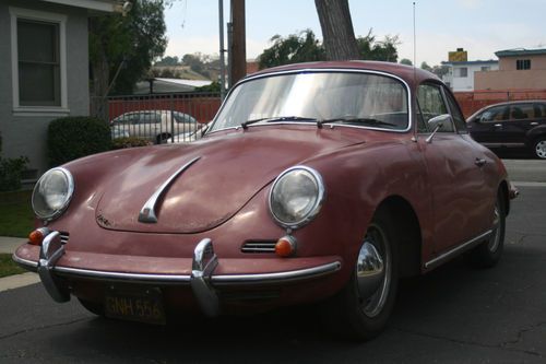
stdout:
POLYGON ((455 92, 455 98, 467 118, 487 105, 521 99, 546 99, 546 90, 455 92))

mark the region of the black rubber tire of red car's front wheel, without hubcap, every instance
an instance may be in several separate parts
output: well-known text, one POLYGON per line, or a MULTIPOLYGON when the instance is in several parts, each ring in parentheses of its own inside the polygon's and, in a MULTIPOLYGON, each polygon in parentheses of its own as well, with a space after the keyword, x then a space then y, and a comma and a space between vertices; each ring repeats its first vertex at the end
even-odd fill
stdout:
POLYGON ((334 296, 327 300, 322 308, 322 318, 339 337, 366 341, 378 336, 387 325, 394 307, 397 291, 396 235, 394 225, 387 214, 379 211, 366 232, 360 253, 366 243, 371 243, 383 258, 384 275, 379 289, 371 296, 361 297, 358 287, 358 259, 346 285, 334 296))

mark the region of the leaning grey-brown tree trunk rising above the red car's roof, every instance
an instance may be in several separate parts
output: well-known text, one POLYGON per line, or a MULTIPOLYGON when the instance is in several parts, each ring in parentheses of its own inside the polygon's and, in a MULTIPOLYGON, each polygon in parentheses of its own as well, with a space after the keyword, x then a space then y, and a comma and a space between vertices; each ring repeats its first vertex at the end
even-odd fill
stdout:
POLYGON ((358 59, 348 0, 314 0, 328 60, 358 59))

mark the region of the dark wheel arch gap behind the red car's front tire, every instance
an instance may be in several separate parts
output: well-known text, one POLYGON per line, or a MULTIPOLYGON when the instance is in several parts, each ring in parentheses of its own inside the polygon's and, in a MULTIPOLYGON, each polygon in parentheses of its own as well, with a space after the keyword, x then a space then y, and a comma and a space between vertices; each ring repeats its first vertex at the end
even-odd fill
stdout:
POLYGON ((420 223, 412 204, 401 196, 390 196, 379 206, 388 209, 389 215, 393 218, 396 231, 397 257, 400 265, 400 277, 414 277, 420 273, 422 267, 422 228, 420 223))

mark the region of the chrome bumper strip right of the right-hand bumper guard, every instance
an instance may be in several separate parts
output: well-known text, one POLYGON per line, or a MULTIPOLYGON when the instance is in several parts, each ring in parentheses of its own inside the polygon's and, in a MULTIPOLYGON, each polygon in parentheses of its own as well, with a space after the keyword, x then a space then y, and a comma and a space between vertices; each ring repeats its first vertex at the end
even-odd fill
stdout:
POLYGON ((258 273, 258 274, 229 274, 229 275, 213 275, 212 282, 214 284, 229 284, 229 283, 277 283, 289 282, 295 280, 317 278, 336 272, 341 269, 341 261, 334 261, 328 265, 322 265, 312 268, 293 270, 287 272, 276 273, 258 273))

